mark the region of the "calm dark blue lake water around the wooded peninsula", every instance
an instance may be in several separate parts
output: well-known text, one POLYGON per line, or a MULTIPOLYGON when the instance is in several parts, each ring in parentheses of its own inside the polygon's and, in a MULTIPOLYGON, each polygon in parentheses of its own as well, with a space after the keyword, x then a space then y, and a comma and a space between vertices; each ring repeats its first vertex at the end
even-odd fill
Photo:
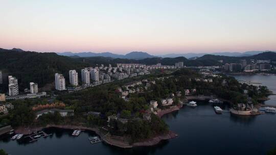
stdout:
MULTIPOLYGON (((244 78, 253 78, 250 79, 252 82, 264 80, 261 82, 262 85, 267 84, 269 89, 274 88, 273 91, 275 92, 275 76, 254 76, 245 76, 244 78), (268 79, 272 83, 269 83, 268 79)), ((179 136, 175 139, 162 141, 162 143, 152 147, 121 149, 105 143, 90 144, 88 137, 94 136, 94 132, 82 132, 80 136, 72 137, 72 130, 48 128, 45 132, 53 135, 40 138, 33 143, 24 142, 24 139, 17 141, 10 140, 10 137, 1 137, 0 148, 5 149, 10 154, 244 155, 265 154, 267 150, 276 146, 275 114, 266 113, 251 117, 235 116, 228 112, 216 114, 213 107, 208 103, 198 102, 198 105, 196 108, 183 107, 179 111, 164 115, 163 119, 170 126, 170 130, 179 136)), ((227 109, 227 105, 223 108, 227 109)))

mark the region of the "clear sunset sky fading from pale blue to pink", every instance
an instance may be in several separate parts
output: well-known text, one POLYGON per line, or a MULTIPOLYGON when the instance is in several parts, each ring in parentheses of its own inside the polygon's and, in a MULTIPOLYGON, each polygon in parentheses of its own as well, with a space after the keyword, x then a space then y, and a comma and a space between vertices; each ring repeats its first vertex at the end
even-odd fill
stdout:
POLYGON ((5 1, 0 47, 126 54, 276 50, 276 1, 5 1))

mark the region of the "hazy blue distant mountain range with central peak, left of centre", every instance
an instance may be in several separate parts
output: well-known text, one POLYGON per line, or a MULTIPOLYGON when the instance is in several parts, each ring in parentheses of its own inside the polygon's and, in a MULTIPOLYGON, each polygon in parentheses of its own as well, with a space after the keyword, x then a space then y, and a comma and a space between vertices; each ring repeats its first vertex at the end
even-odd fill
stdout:
POLYGON ((126 55, 118 55, 112 54, 109 52, 106 53, 93 53, 93 52, 83 52, 83 53, 72 53, 72 52, 64 52, 64 53, 57 53, 61 56, 68 56, 68 57, 110 57, 110 58, 121 58, 121 59, 145 59, 145 58, 154 58, 156 56, 149 55, 148 53, 142 51, 132 51, 126 55))

